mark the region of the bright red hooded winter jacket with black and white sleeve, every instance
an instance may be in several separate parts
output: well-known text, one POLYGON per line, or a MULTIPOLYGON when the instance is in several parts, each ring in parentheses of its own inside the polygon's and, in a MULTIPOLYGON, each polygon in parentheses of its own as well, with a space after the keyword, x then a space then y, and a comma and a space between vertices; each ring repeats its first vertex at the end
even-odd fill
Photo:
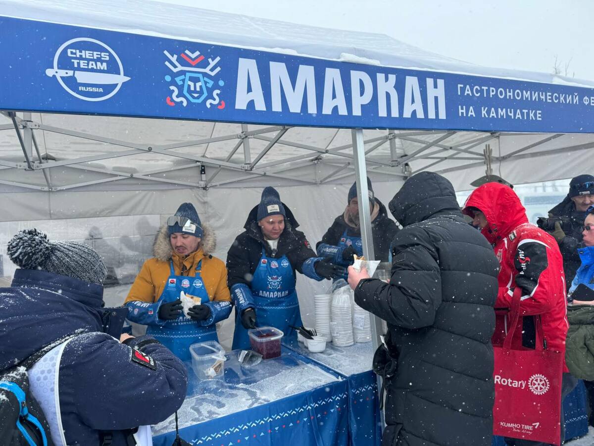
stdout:
MULTIPOLYGON (((477 208, 485 214, 488 225, 481 232, 494 245, 495 255, 501 264, 493 344, 503 344, 510 323, 511 297, 519 294, 520 318, 512 347, 520 349, 522 344, 527 347, 531 342, 533 348, 536 341, 534 335, 530 337, 530 332, 540 318, 544 340, 538 342, 565 353, 569 324, 563 257, 557 241, 528 222, 520 199, 503 184, 486 183, 478 187, 466 200, 463 210, 466 215, 473 216, 469 208, 477 208), (533 319, 525 321, 528 317, 533 319), (523 331, 526 331, 524 338, 523 331)), ((565 363, 563 367, 567 372, 565 363)))

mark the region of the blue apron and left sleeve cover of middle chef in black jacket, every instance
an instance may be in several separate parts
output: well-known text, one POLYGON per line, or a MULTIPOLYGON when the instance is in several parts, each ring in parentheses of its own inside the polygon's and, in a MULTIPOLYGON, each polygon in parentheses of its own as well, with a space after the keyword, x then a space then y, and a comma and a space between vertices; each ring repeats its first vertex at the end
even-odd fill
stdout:
MULTIPOLYGON (((285 337, 297 337, 297 332, 289 327, 301 326, 299 301, 295 291, 295 274, 287 256, 278 259, 267 257, 262 249, 251 284, 254 297, 256 322, 258 326, 273 326, 281 330, 285 337)), ((235 315, 233 350, 251 348, 248 331, 241 325, 241 315, 235 315)))

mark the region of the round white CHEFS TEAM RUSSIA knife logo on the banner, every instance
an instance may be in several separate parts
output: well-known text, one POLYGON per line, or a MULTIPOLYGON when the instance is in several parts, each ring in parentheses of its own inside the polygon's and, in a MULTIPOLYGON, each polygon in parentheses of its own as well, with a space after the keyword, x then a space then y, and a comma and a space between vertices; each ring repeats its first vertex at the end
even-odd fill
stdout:
POLYGON ((53 56, 53 67, 45 70, 64 90, 83 100, 111 98, 130 80, 118 55, 99 40, 79 37, 68 40, 53 56))

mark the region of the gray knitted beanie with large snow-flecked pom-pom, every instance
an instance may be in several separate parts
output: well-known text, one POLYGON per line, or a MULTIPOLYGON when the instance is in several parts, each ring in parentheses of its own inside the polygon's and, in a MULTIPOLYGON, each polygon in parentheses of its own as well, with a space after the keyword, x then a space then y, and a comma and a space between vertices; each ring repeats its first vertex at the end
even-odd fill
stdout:
POLYGON ((93 248, 76 241, 49 241, 36 229, 19 231, 8 242, 8 257, 24 269, 40 269, 102 285, 108 274, 93 248))

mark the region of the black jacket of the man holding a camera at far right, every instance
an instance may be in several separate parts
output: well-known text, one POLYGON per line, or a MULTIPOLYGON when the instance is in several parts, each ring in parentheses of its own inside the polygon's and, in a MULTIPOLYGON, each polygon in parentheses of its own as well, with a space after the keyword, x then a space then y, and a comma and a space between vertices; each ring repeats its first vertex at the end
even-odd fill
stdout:
POLYGON ((582 264, 577 249, 583 247, 582 226, 586 219, 586 212, 577 211, 576 205, 570 197, 559 203, 549 211, 554 217, 566 216, 570 218, 570 228, 564 228, 565 238, 559 243, 559 250, 563 256, 563 272, 565 272, 565 285, 567 290, 571 287, 573 278, 576 277, 577 268, 582 264))

